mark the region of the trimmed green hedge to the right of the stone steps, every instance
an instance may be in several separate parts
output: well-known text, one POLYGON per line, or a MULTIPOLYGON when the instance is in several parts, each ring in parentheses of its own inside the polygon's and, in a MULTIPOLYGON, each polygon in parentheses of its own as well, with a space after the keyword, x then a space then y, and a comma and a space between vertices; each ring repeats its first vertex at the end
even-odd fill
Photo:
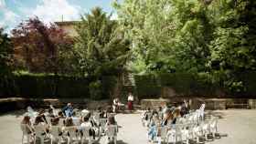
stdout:
MULTIPOLYGON (((224 80, 214 81, 216 76, 208 73, 165 73, 151 75, 135 75, 135 85, 139 98, 159 98, 162 87, 172 87, 179 96, 196 97, 256 97, 256 72, 243 72, 235 74, 238 81, 241 81, 243 90, 233 91, 230 87, 224 86, 224 80)), ((230 80, 230 78, 228 79, 230 80)))

